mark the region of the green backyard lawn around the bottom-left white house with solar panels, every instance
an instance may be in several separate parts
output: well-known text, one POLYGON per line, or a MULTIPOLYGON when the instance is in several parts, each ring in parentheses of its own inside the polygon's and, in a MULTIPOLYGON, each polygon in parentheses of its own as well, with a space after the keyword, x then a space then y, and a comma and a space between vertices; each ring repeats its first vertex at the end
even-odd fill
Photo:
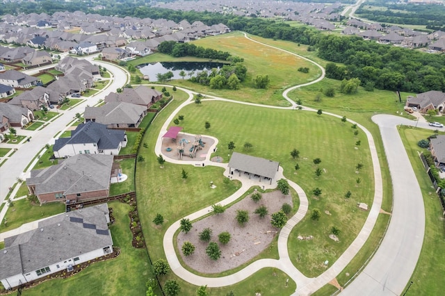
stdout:
MULTIPOLYGON (((147 251, 131 246, 129 206, 122 202, 108 203, 113 208, 115 224, 111 225, 113 245, 121 248, 117 258, 93 263, 73 277, 51 279, 25 295, 145 295, 145 282, 153 277, 147 251), (56 292, 57 291, 57 292, 56 292)), ((156 295, 161 295, 156 290, 156 295)))

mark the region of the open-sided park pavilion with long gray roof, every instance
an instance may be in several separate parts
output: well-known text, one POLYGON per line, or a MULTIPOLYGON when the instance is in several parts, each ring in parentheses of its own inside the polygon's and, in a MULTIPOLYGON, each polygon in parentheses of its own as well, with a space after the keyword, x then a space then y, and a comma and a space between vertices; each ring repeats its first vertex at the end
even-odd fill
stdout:
POLYGON ((241 176, 241 172, 243 172, 249 175, 249 179, 253 175, 260 182, 261 178, 264 178, 272 184, 272 179, 275 178, 279 167, 280 163, 277 161, 234 152, 229 161, 229 174, 238 173, 238 176, 241 176))

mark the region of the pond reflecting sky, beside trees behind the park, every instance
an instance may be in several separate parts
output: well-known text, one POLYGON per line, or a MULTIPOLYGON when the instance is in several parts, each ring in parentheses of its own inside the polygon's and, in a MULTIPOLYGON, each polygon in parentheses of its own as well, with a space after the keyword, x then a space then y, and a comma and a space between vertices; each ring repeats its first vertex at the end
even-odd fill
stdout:
POLYGON ((173 73, 172 79, 182 79, 179 73, 184 70, 186 76, 184 79, 189 79, 191 76, 195 76, 197 72, 203 70, 210 70, 212 68, 219 69, 223 67, 223 63, 213 63, 213 62, 159 62, 152 64, 138 65, 140 73, 143 75, 148 75, 150 81, 158 81, 156 79, 156 74, 165 74, 169 71, 173 73))

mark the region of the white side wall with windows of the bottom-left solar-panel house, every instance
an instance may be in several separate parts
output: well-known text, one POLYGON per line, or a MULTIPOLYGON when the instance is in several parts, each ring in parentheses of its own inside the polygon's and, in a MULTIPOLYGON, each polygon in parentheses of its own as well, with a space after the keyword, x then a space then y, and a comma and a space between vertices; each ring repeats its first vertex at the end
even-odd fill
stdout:
MULTIPOLYGON (((110 245, 108 246, 111 250, 111 252, 113 252, 113 246, 110 245)), ((86 254, 81 254, 79 255, 79 261, 74 261, 74 258, 66 258, 63 261, 60 261, 58 263, 54 263, 51 265, 47 265, 47 266, 42 266, 42 268, 46 268, 49 267, 49 270, 51 270, 50 272, 41 274, 40 276, 37 275, 36 270, 33 270, 31 272, 27 272, 26 274, 15 274, 12 277, 8 277, 6 279, 2 279, 1 283, 3 283, 3 286, 8 289, 8 288, 13 288, 16 286, 19 286, 21 283, 26 283, 28 281, 33 281, 35 279, 40 279, 41 277, 46 277, 49 274, 53 274, 55 272, 59 272, 60 270, 65 270, 68 265, 77 265, 77 264, 81 264, 83 262, 86 261, 90 261, 92 259, 98 258, 100 256, 104 256, 106 255, 104 252, 104 248, 100 248, 100 249, 95 249, 92 252, 88 252, 86 254)))

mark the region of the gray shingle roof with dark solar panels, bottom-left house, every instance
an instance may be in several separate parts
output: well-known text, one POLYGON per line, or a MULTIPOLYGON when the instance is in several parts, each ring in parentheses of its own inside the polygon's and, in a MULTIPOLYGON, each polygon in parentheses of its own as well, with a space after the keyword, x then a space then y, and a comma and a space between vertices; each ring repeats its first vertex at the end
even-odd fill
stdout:
POLYGON ((113 245, 106 215, 107 204, 83 208, 39 222, 38 229, 6 238, 5 249, 0 252, 0 279, 113 245), (71 217, 83 222, 71 221, 71 217), (94 224, 95 228, 84 224, 94 224))

